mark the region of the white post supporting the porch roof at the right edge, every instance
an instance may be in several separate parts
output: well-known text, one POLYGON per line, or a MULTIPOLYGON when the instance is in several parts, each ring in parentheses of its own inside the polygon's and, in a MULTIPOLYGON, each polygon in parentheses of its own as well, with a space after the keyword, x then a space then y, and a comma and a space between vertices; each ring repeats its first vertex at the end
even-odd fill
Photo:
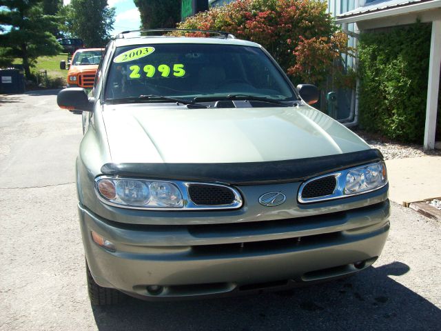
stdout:
POLYGON ((441 66, 441 20, 432 22, 430 43, 429 82, 427 84, 426 127, 424 128, 424 149, 435 148, 436 111, 440 88, 441 66))

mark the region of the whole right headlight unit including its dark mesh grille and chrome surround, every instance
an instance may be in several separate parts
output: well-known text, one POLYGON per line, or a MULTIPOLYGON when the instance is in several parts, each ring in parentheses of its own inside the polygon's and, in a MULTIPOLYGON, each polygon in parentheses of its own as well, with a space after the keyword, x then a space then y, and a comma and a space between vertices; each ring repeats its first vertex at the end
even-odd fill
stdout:
POLYGON ((309 179, 300 185, 298 201, 312 203, 351 197, 378 190, 387 184, 384 162, 371 163, 309 179))

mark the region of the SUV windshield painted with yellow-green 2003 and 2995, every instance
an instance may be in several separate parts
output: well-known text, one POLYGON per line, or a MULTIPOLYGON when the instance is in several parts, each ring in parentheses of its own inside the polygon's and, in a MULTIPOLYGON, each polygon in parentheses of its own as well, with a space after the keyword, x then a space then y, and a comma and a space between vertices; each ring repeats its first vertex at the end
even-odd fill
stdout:
POLYGON ((187 100, 232 94, 296 99, 283 74, 260 48, 194 43, 117 48, 105 99, 150 94, 187 100))

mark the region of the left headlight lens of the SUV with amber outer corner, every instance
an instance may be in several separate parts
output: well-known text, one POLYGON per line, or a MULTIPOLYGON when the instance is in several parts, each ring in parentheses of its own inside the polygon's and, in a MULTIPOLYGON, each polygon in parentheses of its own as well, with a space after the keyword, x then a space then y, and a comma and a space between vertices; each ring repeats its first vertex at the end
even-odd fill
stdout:
POLYGON ((121 207, 182 208, 182 193, 174 183, 141 179, 97 178, 95 189, 105 203, 121 207))

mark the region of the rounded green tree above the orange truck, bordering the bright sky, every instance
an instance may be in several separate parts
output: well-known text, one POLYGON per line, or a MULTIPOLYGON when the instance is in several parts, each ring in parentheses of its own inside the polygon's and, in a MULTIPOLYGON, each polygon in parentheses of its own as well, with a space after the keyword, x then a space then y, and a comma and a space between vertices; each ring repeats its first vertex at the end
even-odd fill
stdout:
POLYGON ((107 0, 72 0, 64 6, 66 32, 83 39, 85 46, 103 47, 110 39, 115 21, 115 8, 107 0))

